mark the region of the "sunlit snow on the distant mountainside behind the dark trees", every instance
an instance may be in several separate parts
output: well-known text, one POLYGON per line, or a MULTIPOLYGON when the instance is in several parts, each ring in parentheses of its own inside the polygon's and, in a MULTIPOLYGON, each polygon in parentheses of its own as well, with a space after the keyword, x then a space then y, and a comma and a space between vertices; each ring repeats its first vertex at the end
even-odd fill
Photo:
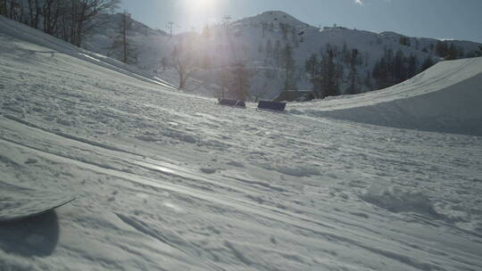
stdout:
MULTIPOLYGON (((100 19, 103 28, 95 30, 95 35, 89 37, 86 45, 87 50, 102 53, 105 55, 120 55, 119 51, 111 49, 114 38, 119 36, 120 14, 103 15, 100 19)), ((312 83, 304 73, 304 63, 316 53, 326 53, 328 45, 336 53, 336 62, 344 66, 344 78, 340 81, 341 93, 349 86, 349 70, 347 63, 341 62, 343 48, 346 45, 348 53, 356 48, 362 61, 356 69, 361 82, 367 74, 371 74, 375 63, 382 57, 386 50, 391 49, 395 54, 401 50, 405 57, 412 53, 416 56, 419 68, 421 64, 431 57, 434 62, 440 60, 436 56, 435 38, 407 37, 411 45, 401 45, 400 38, 404 37, 395 32, 375 33, 359 29, 346 29, 343 27, 320 29, 310 26, 303 21, 295 19, 286 12, 270 11, 262 12, 252 17, 247 17, 229 24, 227 32, 224 24, 212 25, 209 35, 197 34, 194 32, 174 35, 170 37, 163 31, 146 29, 140 22, 134 21, 134 26, 128 32, 130 45, 137 51, 138 69, 152 73, 170 84, 178 85, 179 76, 172 69, 163 70, 162 58, 170 60, 170 53, 174 45, 190 40, 194 45, 194 54, 199 62, 208 62, 207 67, 197 70, 188 81, 187 91, 195 94, 203 94, 209 97, 220 97, 220 75, 219 71, 233 62, 245 61, 251 70, 251 94, 263 94, 263 99, 274 99, 283 90, 284 70, 281 63, 275 63, 272 57, 267 57, 266 47, 270 41, 271 47, 275 47, 277 41, 280 48, 291 45, 294 50, 296 65, 296 76, 298 89, 311 89, 312 83), (287 37, 283 37, 280 23, 290 27, 287 37), (271 30, 272 24, 272 30, 271 30), (264 29, 263 25, 268 27, 264 29), (294 28, 295 31, 292 31, 294 28), (303 35, 298 35, 303 32, 303 35), (229 33, 229 35, 227 35, 229 33), (303 38, 303 42, 300 40, 303 38), (260 52, 262 49, 262 52, 260 52), (266 72, 270 72, 274 78, 266 78, 266 72), (214 86, 213 86, 214 85, 214 86), (218 85, 218 86, 215 86, 218 85)), ((464 55, 469 53, 480 53, 482 44, 469 41, 451 41, 461 49, 464 55)), ((460 52, 460 53, 462 53, 460 52)), ((375 80, 372 78, 372 84, 375 80)), ((368 91, 367 86, 359 86, 360 92, 368 91)))

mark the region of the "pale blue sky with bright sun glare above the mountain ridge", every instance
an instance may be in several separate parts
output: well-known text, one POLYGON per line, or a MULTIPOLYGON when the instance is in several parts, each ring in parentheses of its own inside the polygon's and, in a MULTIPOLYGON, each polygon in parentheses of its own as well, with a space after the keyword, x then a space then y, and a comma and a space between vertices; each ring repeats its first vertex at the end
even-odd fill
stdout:
POLYGON ((482 0, 122 0, 122 9, 153 29, 200 31, 229 15, 234 20, 283 11, 312 26, 337 24, 410 37, 482 43, 482 0))

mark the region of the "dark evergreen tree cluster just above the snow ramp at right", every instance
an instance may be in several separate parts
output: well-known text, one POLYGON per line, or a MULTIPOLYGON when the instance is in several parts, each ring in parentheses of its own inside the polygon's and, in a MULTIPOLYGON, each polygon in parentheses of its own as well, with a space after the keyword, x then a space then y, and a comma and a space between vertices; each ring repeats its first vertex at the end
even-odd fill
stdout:
MULTIPOLYGON (((406 40, 403 42, 407 43, 406 40)), ((342 50, 327 44, 324 50, 313 53, 305 61, 304 71, 312 83, 314 96, 323 99, 394 86, 435 64, 430 55, 420 63, 414 53, 405 55, 402 49, 395 53, 390 48, 385 50, 371 70, 368 70, 369 61, 368 53, 349 49, 345 43, 342 50), (365 73, 360 74, 359 70, 365 70, 365 73)))

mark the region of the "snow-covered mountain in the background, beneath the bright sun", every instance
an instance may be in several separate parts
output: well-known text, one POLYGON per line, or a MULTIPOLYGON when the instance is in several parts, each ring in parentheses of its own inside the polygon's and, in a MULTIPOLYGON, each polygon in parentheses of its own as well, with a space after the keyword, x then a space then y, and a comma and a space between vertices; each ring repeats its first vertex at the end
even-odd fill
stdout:
MULTIPOLYGON (((102 29, 96 31, 86 44, 88 50, 114 56, 111 46, 115 37, 119 36, 120 14, 104 15, 102 29)), ((170 60, 174 45, 187 39, 195 46, 198 62, 203 69, 198 70, 195 78, 206 84, 220 85, 220 69, 241 60, 247 62, 253 71, 252 94, 265 92, 264 98, 272 98, 283 89, 284 71, 282 51, 286 45, 294 48, 296 65, 295 86, 299 89, 311 89, 309 75, 304 71, 306 60, 313 53, 335 53, 335 62, 340 75, 340 92, 346 92, 350 85, 350 54, 357 49, 356 88, 357 92, 378 89, 377 78, 373 78, 374 66, 385 57, 386 62, 394 62, 396 53, 403 53, 403 69, 401 78, 389 78, 381 87, 392 86, 410 74, 420 72, 424 62, 430 58, 433 62, 445 58, 465 58, 482 54, 482 45, 469 41, 441 41, 435 38, 404 37, 394 32, 374 33, 358 29, 346 29, 334 26, 317 28, 296 20, 285 12, 263 12, 253 17, 204 29, 202 34, 185 33, 170 37, 160 30, 147 28, 135 22, 129 30, 129 40, 137 52, 137 67, 159 73, 176 81, 172 70, 162 68, 162 59, 170 60), (451 47, 452 46, 452 47, 451 47), (453 49, 451 52, 450 50, 453 49), (276 53, 278 52, 278 53, 276 53), (413 67, 409 68, 409 58, 413 56, 413 67)), ((113 50, 115 51, 115 50, 113 50)), ((119 51, 119 50, 117 50, 119 51)), ((117 54, 120 54, 117 52, 117 54)), ((393 68, 387 64, 386 69, 393 68)), ((172 82, 176 83, 176 82, 172 82)), ((219 92, 215 88, 212 95, 219 92)))

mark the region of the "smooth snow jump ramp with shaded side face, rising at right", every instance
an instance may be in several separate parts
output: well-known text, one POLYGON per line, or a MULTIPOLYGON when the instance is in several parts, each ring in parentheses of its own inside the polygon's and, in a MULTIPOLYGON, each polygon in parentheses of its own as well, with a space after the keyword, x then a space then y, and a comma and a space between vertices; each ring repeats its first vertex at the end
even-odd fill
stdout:
POLYGON ((296 104, 292 113, 386 127, 482 136, 482 58, 439 62, 399 85, 296 104))

